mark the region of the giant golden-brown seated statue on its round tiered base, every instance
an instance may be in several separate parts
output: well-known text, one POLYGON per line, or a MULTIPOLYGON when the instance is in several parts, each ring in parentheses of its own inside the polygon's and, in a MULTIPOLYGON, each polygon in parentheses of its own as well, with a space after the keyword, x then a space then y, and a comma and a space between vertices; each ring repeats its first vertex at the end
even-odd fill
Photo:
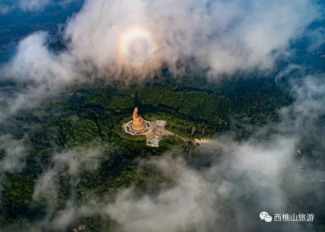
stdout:
POLYGON ((152 132, 152 124, 138 115, 138 108, 133 111, 132 120, 124 124, 124 131, 130 135, 148 135, 152 132))

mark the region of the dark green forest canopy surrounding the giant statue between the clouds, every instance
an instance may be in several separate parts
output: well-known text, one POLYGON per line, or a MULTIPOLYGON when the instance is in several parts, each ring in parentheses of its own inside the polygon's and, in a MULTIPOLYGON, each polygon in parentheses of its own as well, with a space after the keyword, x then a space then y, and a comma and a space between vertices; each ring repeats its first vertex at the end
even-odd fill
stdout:
MULTIPOLYGON (((290 102, 274 84, 252 89, 240 86, 239 82, 227 88, 219 87, 205 78, 196 77, 195 73, 180 79, 158 79, 154 85, 148 86, 75 86, 67 93, 81 92, 85 96, 64 93, 41 104, 33 112, 21 112, 16 121, 30 130, 1 125, 3 130, 10 130, 19 139, 25 133, 28 136, 24 141, 25 168, 5 174, 3 180, 0 228, 14 231, 21 224, 26 227, 24 231, 37 231, 39 228, 32 228, 32 225, 48 208, 52 207, 57 213, 70 200, 82 206, 90 198, 113 200, 122 188, 130 185, 150 194, 155 194, 160 187, 172 186, 169 178, 156 173, 152 167, 135 166, 134 160, 160 156, 174 147, 188 146, 179 139, 165 136, 159 147, 153 148, 146 146, 145 136, 123 134, 122 124, 131 120, 135 106, 146 120, 166 120, 166 129, 170 132, 184 138, 201 138, 231 129, 237 132, 243 120, 247 123, 278 120, 277 109, 290 102), (218 122, 219 119, 224 121, 218 122), (196 126, 194 135, 191 134, 192 126, 196 126), (205 135, 200 134, 203 128, 205 135), (86 161, 76 155, 74 161, 81 165, 77 174, 73 174, 69 171, 71 164, 68 161, 57 166, 54 157, 66 149, 76 152, 98 150, 99 155, 86 161), (40 174, 54 167, 59 167, 53 178, 58 188, 47 189, 38 199, 33 199, 35 181, 40 174)), ((240 133, 238 137, 250 132, 240 133)), ((187 153, 180 151, 177 154, 187 153)), ((0 149, 0 159, 5 155, 0 149)), ((79 220, 87 224, 90 231, 113 228, 115 223, 103 220, 99 215, 79 220)))

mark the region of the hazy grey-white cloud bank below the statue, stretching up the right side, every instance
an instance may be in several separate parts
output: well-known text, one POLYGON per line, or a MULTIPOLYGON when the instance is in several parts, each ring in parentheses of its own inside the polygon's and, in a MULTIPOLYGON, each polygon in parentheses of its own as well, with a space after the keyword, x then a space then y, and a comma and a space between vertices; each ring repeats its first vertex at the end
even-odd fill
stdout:
MULTIPOLYGON (((113 201, 111 196, 99 200, 89 192, 87 204, 78 204, 71 197, 62 210, 53 214, 54 217, 47 217, 52 218, 48 225, 61 229, 78 218, 90 216, 104 221, 113 219, 117 224, 112 231, 124 232, 317 231, 311 223, 275 223, 269 227, 260 221, 259 213, 267 211, 272 216, 276 213, 317 213, 305 212, 307 205, 299 203, 299 199, 303 199, 301 196, 313 193, 315 199, 311 205, 319 202, 322 196, 315 186, 309 185, 310 180, 295 171, 300 162, 295 147, 303 145, 306 136, 313 135, 324 114, 323 77, 316 75, 292 80, 295 102, 279 112, 282 121, 260 128, 247 141, 236 142, 226 135, 221 137, 220 141, 227 142, 228 149, 221 161, 210 167, 191 167, 178 156, 180 151, 177 149, 162 157, 140 161, 140 168, 150 167, 151 172, 159 174, 160 178, 167 178, 169 184, 158 182, 152 186, 153 192, 136 186, 122 188, 113 201), (172 158, 175 154, 178 158, 172 158), (303 183, 305 188, 301 188, 303 183)), ((322 135, 324 132, 318 131, 318 137, 313 139, 324 145, 322 135)), ((66 154, 55 156, 57 171, 65 162, 75 163, 72 157, 66 154)), ((70 164, 69 167, 72 170, 69 172, 78 176, 73 170, 81 166, 70 164)), ((51 182, 47 177, 51 179, 52 173, 49 170, 42 175, 37 185, 48 186, 51 182)), ((35 191, 38 189, 40 187, 35 191)))

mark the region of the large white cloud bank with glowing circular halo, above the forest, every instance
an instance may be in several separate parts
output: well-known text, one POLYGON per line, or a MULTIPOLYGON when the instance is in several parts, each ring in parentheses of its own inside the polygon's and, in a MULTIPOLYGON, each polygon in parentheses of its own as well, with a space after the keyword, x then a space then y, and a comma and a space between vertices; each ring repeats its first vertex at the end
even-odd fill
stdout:
MULTIPOLYGON (((48 3, 28 2, 38 7, 48 3)), ((1 105, 10 107, 2 110, 0 119, 35 106, 69 83, 138 83, 166 64, 182 73, 178 64, 190 65, 190 58, 212 78, 268 70, 318 17, 318 6, 305 0, 85 1, 67 21, 67 50, 49 51, 45 32, 20 42, 17 55, 0 72, 2 80, 24 84, 10 97, 1 97, 1 105)))

